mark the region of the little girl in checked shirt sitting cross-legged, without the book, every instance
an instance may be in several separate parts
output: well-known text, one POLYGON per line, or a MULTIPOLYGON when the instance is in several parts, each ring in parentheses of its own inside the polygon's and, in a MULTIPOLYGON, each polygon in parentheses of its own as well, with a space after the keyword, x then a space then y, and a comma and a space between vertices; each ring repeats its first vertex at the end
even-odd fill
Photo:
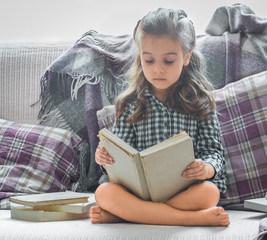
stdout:
MULTIPOLYGON (((160 8, 138 22, 134 40, 136 60, 130 86, 116 102, 113 132, 141 151, 186 131, 196 160, 183 176, 199 181, 162 203, 141 200, 118 184, 101 184, 95 192, 98 206, 90 210, 92 223, 228 226, 228 214, 216 206, 226 190, 220 129, 194 49, 192 22, 184 11, 160 8)), ((100 146, 95 159, 102 166, 114 163, 100 146)))

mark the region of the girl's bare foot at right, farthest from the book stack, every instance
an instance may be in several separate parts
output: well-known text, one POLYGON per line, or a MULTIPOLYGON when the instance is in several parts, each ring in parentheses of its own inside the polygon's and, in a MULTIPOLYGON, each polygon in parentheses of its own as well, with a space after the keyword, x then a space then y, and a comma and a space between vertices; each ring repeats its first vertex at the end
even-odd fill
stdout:
POLYGON ((222 207, 212 207, 199 211, 195 218, 197 225, 204 226, 228 226, 229 216, 222 207))

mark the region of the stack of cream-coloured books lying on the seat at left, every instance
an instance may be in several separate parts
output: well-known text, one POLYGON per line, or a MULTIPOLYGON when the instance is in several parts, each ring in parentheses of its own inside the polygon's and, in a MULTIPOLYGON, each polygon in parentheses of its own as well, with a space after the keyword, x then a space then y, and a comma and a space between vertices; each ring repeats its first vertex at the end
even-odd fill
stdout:
POLYGON ((54 192, 10 197, 11 218, 48 222, 89 218, 96 205, 89 193, 54 192))

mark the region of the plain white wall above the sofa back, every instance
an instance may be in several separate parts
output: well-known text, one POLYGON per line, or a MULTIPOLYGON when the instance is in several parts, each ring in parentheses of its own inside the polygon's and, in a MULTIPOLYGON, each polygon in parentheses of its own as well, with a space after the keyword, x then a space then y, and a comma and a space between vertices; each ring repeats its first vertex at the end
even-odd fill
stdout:
MULTIPOLYGON (((267 17, 266 0, 242 0, 256 15, 267 17)), ((184 9, 198 34, 204 33, 216 8, 231 0, 0 0, 0 42, 76 40, 94 29, 132 33, 136 22, 158 7, 184 9)))

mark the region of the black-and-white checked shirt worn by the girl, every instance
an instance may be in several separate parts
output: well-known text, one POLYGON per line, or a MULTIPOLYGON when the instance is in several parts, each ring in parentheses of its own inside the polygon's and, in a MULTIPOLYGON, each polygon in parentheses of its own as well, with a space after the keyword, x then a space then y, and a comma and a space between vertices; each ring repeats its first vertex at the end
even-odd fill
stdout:
POLYGON ((216 115, 210 120, 192 118, 189 114, 166 108, 149 89, 145 89, 145 97, 151 106, 148 120, 135 124, 127 123, 126 119, 136 110, 135 101, 129 102, 125 113, 118 120, 119 127, 114 125, 113 133, 141 151, 186 131, 192 138, 195 157, 214 167, 215 176, 211 181, 217 185, 220 192, 225 192, 224 152, 216 115))

